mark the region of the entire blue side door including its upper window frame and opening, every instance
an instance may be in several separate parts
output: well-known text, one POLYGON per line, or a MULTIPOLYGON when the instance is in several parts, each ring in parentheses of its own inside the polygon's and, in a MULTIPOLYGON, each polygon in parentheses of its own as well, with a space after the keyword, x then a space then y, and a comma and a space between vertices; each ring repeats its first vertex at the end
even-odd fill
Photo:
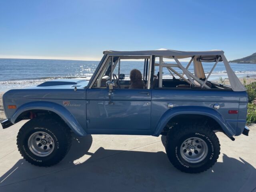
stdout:
POLYGON ((149 59, 150 56, 145 55, 115 55, 106 58, 97 77, 86 90, 88 133, 150 134, 151 90, 146 86, 148 79, 144 78, 145 74, 150 73, 149 59), (136 68, 137 80, 141 83, 141 86, 136 88, 130 86, 132 82, 130 73, 134 68, 136 68), (114 84, 114 76, 120 86, 115 85, 114 90, 110 92, 110 102, 106 82, 114 84))

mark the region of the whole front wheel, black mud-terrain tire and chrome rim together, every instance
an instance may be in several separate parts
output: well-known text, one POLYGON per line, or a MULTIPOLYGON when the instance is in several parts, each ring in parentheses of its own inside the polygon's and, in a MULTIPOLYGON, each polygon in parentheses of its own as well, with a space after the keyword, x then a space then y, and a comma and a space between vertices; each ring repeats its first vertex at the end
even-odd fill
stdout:
POLYGON ((26 122, 17 136, 20 154, 26 161, 37 166, 57 164, 71 146, 68 126, 64 122, 48 118, 34 118, 26 122))

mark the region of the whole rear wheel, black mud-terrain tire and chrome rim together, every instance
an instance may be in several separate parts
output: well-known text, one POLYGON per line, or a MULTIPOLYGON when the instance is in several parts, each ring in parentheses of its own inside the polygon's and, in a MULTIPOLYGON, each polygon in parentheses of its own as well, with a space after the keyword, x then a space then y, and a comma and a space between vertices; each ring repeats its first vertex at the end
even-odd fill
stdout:
POLYGON ((220 154, 220 142, 206 125, 172 128, 166 138, 166 154, 182 172, 199 173, 211 168, 220 154))

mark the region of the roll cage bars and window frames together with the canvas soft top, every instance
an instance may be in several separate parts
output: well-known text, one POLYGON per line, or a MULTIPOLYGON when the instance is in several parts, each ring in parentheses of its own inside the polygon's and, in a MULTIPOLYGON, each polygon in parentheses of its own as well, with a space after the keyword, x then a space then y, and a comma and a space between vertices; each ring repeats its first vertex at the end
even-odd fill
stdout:
MULTIPOLYGON (((112 73, 116 65, 118 64, 118 77, 120 74, 120 59, 136 59, 136 58, 144 58, 144 70, 143 70, 143 80, 147 80, 147 89, 152 87, 152 82, 154 80, 154 70, 155 66, 159 66, 159 74, 158 74, 158 88, 162 88, 162 74, 163 68, 167 68, 172 76, 175 74, 180 78, 180 80, 184 80, 188 83, 191 87, 197 86, 198 88, 206 88, 210 89, 207 85, 207 81, 212 74, 214 68, 218 64, 218 62, 224 62, 224 66, 226 68, 228 78, 230 80, 230 85, 232 90, 234 91, 245 91, 246 89, 239 81, 239 79, 234 74, 233 70, 230 68, 226 57, 224 56, 224 52, 220 50, 216 51, 206 51, 206 52, 179 52, 173 50, 154 50, 154 51, 134 51, 134 52, 118 52, 118 51, 104 51, 104 56, 92 76, 91 81, 89 82, 89 88, 92 88, 93 84, 95 83, 96 79, 102 68, 106 66, 107 60, 111 57, 112 64, 111 64, 111 73, 110 80, 112 80, 112 73), (155 59, 159 58, 159 62, 155 62, 155 59), (164 58, 171 58, 174 59, 176 62, 175 64, 165 63, 164 58), (187 66, 184 67, 180 63, 179 59, 181 58, 190 58, 187 66), (204 68, 202 66, 202 62, 214 62, 212 69, 205 76, 204 68), (194 74, 188 70, 189 66, 193 63, 194 65, 194 74), (175 68, 179 68, 182 73, 178 73, 175 68)), ((100 80, 100 79, 99 79, 100 80)))

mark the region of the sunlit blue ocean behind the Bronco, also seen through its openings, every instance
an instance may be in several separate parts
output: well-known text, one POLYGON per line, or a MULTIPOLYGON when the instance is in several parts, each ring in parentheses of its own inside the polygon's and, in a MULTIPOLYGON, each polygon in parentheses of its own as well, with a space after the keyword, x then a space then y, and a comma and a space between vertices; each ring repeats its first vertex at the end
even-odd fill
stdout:
MULTIPOLYGON (((181 63, 186 66, 188 62, 181 63)), ((98 64, 99 61, 0 59, 0 92, 24 88, 58 78, 86 78, 89 80, 98 64)), ((203 63, 206 74, 210 72, 213 64, 203 63)), ((120 73, 129 77, 130 70, 133 68, 143 72, 143 65, 143 61, 121 61, 120 73)), ((256 64, 230 63, 230 66, 239 78, 256 75, 256 64)), ((189 70, 193 72, 192 64, 189 70)), ((180 72, 180 70, 177 71, 180 72)), ((163 72, 164 78, 170 77, 170 73, 166 69, 163 72)), ((227 78, 222 62, 217 64, 210 80, 218 80, 220 77, 227 78)))

